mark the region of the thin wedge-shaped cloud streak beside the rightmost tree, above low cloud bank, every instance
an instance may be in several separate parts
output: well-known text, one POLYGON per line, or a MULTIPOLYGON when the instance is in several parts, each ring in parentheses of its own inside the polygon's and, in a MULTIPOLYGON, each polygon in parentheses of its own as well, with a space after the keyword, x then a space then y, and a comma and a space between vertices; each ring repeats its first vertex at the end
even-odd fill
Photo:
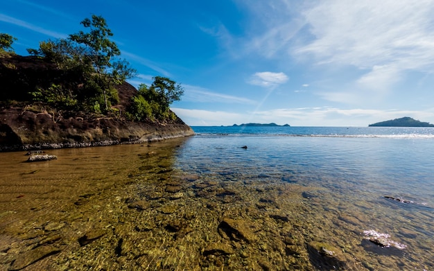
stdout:
POLYGON ((257 103, 255 100, 227 94, 219 94, 203 87, 197 87, 193 85, 183 85, 183 87, 185 92, 182 100, 186 101, 194 101, 199 103, 242 103, 250 105, 257 103))

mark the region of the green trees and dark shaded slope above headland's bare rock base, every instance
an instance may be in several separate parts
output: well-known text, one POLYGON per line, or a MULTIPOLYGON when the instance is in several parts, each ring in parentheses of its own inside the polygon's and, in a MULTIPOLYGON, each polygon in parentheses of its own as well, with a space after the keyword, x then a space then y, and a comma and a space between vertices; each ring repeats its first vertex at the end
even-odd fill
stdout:
POLYGON ((28 49, 29 56, 15 55, 16 40, 0 33, 0 101, 3 105, 35 105, 42 110, 85 112, 119 117, 129 121, 174 121, 169 106, 180 100, 184 89, 175 81, 155 76, 149 87, 141 85, 120 110, 118 86, 136 70, 120 57, 110 40, 112 31, 101 16, 92 15, 81 23, 84 30, 66 39, 40 42, 28 49))

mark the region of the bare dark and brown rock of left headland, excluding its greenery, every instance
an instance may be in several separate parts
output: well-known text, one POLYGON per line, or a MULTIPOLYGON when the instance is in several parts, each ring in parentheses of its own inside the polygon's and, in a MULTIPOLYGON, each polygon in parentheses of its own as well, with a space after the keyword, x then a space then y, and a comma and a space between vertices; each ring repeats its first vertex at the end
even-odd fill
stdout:
MULTIPOLYGON (((143 143, 194 134, 179 118, 170 123, 142 123, 83 112, 47 112, 28 105, 25 94, 35 85, 43 86, 46 76, 62 80, 65 75, 58 76, 60 71, 52 64, 37 58, 13 56, 0 60, 0 100, 20 101, 20 105, 4 103, 0 107, 0 151, 143 143)), ((120 103, 114 107, 123 112, 137 89, 126 82, 116 89, 120 103)))

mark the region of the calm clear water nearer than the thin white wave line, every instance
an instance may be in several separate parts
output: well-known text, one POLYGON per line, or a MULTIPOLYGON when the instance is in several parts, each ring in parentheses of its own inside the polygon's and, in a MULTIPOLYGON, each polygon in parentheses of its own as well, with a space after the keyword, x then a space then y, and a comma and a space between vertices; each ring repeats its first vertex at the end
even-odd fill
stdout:
POLYGON ((40 163, 0 153, 0 269, 431 270, 424 144, 191 137, 40 163))

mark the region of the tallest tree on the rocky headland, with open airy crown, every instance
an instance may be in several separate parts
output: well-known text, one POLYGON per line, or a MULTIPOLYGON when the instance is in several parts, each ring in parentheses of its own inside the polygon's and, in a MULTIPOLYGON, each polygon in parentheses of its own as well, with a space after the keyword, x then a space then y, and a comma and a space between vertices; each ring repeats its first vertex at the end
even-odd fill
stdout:
POLYGON ((40 42, 39 49, 27 51, 81 75, 85 83, 75 90, 81 109, 108 112, 119 102, 113 86, 132 78, 136 71, 126 60, 119 60, 121 51, 110 40, 113 33, 103 17, 92 15, 92 19, 86 18, 80 24, 86 31, 80 30, 67 39, 40 42))

